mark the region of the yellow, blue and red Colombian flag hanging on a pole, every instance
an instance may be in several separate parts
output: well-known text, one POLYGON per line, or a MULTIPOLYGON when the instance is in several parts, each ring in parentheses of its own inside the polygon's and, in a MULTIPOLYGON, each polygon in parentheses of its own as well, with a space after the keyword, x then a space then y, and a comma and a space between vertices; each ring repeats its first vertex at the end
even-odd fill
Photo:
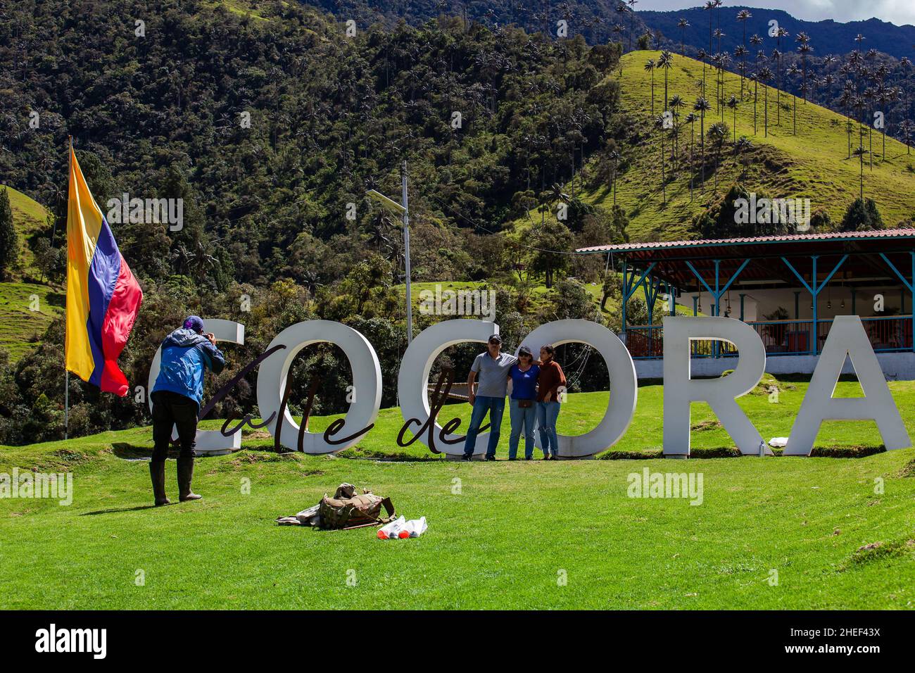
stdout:
POLYGON ((114 243, 70 143, 67 205, 67 370, 105 393, 127 395, 117 359, 143 290, 114 243))

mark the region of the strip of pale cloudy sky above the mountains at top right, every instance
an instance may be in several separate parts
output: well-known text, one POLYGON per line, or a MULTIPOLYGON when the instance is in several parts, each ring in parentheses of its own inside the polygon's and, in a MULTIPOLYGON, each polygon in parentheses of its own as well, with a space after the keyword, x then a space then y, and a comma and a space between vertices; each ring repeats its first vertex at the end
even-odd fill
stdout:
MULTIPOLYGON (((699 0, 642 0, 640 9, 684 9, 704 5, 699 0)), ((915 24, 915 0, 726 0, 725 5, 744 5, 765 9, 783 9, 792 16, 820 21, 857 21, 876 16, 901 26, 915 24)))

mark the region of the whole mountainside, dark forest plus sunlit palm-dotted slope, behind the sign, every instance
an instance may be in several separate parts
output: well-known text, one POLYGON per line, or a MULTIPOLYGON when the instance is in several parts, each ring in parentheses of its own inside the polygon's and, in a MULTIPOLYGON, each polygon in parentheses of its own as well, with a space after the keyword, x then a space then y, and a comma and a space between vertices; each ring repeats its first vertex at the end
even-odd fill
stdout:
MULTIPOLYGON (((28 260, 3 271, 0 280, 17 286, 5 296, 0 283, 5 306, 26 306, 32 294, 59 303, 69 136, 103 211, 124 194, 183 203, 178 228, 112 220, 145 293, 120 360, 133 392, 100 395, 71 377, 71 435, 147 421, 149 363, 189 312, 246 326, 216 385, 288 325, 339 320, 370 340, 382 405, 395 404, 406 345, 403 233, 366 192, 399 197, 404 161, 414 282, 496 291, 509 347, 546 320, 619 324, 612 269, 576 247, 727 235, 727 200, 746 190, 812 198, 824 229, 864 225, 843 217, 856 190, 876 198, 888 225, 910 220, 910 148, 890 139, 881 151, 881 134, 860 123, 872 109, 861 103, 870 103, 869 73, 888 81, 877 64, 890 57, 862 54, 850 66, 849 112, 859 123, 849 125, 771 89, 776 65, 761 57, 753 67, 770 75, 751 89, 749 67, 742 81, 724 60, 645 51, 659 39, 640 33, 638 13, 619 14, 611 41, 589 47, 597 33, 580 32, 572 10, 563 38, 506 26, 482 11, 490 5, 468 3, 479 21, 464 20, 464 5, 457 16, 429 9, 415 26, 390 9, 378 23, 371 12, 349 23, 345 8, 331 16, 289 2, 0 7, 0 184, 56 216, 19 223, 28 260), (864 143, 874 165, 867 178, 863 155, 852 154, 864 143), (824 175, 829 189, 820 190, 824 175), (873 194, 881 185, 886 193, 873 194), (894 201, 896 192, 907 197, 894 201), (24 294, 26 286, 43 289, 24 294)), ((549 6, 546 26, 565 13, 549 6)), ((783 75, 788 86, 811 72, 783 75)), ((889 116, 890 134, 903 118, 889 116)), ((58 308, 41 309, 52 321, 34 348, 0 347, 0 444, 63 434, 58 308)), ((638 300, 627 310, 633 322, 652 320, 638 300)), ((414 330, 441 319, 414 311, 414 330)), ((573 389, 606 385, 602 363, 585 367, 587 348, 562 348, 563 362, 575 364, 573 389)), ((456 346, 447 357, 464 371, 474 350, 456 346)), ((324 346, 296 360, 290 409, 301 413, 316 375, 313 412, 343 411, 349 364, 324 346)), ((254 377, 212 415, 256 414, 254 377)))

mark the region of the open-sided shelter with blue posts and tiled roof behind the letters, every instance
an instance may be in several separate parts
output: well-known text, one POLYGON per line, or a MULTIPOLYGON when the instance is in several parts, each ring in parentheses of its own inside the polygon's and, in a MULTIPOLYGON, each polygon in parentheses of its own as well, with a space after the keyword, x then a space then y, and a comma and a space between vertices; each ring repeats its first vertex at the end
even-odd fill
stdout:
MULTIPOLYGON (((915 229, 597 245, 577 253, 606 255, 608 268, 621 272, 620 337, 637 364, 663 353, 660 320, 628 320, 627 304, 641 290, 649 316, 657 316, 663 299, 671 315, 747 322, 766 352, 779 356, 767 358, 773 363, 767 369, 781 373, 813 372, 834 317, 858 315, 878 357, 904 355, 879 357, 881 364, 896 363, 889 375, 915 378, 915 229)), ((694 342, 693 354, 726 361, 734 353, 727 343, 694 342)), ((727 368, 705 366, 709 373, 727 368)), ((637 369, 660 372, 650 364, 637 369)))

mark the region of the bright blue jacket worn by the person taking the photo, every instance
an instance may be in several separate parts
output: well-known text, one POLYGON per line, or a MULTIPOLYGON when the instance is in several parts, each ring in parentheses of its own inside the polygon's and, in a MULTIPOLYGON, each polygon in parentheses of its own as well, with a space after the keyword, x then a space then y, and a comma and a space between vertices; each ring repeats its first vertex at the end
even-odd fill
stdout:
POLYGON ((153 393, 169 390, 190 397, 200 407, 203 374, 219 374, 226 360, 222 352, 202 334, 179 328, 162 342, 162 364, 153 393))

